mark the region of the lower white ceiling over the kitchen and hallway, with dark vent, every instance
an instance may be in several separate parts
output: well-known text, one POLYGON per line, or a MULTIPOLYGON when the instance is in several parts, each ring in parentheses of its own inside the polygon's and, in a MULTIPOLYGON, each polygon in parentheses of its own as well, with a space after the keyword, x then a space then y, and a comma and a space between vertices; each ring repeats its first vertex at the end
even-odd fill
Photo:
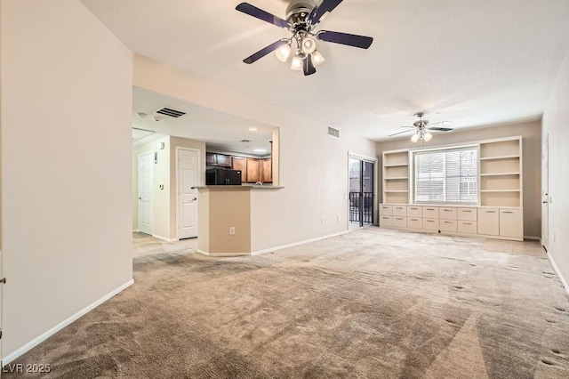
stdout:
MULTIPOLYGON (((208 148, 243 152, 265 156, 270 153, 274 127, 253 124, 241 117, 230 116, 217 110, 206 109, 186 101, 180 101, 143 88, 132 88, 132 127, 155 132, 146 138, 134 141, 135 146, 153 141, 163 135, 205 141, 208 148), (164 107, 186 112, 174 118, 155 113, 164 107), (144 118, 137 113, 146 113, 144 118), (153 117, 160 117, 155 121, 153 117), (256 128, 252 132, 249 128, 256 128), (241 142, 249 140, 250 142, 241 142), (264 152, 255 151, 264 149, 264 152)), ((138 134, 138 133, 137 133, 138 134)), ((132 134, 134 137, 134 133, 132 134)))

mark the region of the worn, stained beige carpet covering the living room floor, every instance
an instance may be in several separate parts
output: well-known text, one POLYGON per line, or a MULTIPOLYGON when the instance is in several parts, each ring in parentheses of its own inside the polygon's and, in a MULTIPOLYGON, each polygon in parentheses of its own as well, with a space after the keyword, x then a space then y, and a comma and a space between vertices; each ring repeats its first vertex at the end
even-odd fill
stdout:
POLYGON ((487 244, 366 228, 254 257, 143 256, 132 287, 14 363, 65 378, 569 377, 549 261, 487 244))

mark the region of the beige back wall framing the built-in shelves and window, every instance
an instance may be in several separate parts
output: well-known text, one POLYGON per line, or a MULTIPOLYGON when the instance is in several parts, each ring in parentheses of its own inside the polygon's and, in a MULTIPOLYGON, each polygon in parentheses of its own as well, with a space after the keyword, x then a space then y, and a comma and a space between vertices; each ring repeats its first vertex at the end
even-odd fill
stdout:
MULTIPOLYGON (((541 236, 541 122, 485 127, 464 132, 437 133, 433 136, 432 141, 424 144, 424 147, 517 135, 523 137, 524 235, 539 238, 541 236)), ((408 138, 397 141, 381 141, 377 143, 377 154, 381 162, 383 151, 416 149, 418 147, 417 143, 413 143, 408 138)), ((381 170, 379 175, 381 187, 381 170)))

